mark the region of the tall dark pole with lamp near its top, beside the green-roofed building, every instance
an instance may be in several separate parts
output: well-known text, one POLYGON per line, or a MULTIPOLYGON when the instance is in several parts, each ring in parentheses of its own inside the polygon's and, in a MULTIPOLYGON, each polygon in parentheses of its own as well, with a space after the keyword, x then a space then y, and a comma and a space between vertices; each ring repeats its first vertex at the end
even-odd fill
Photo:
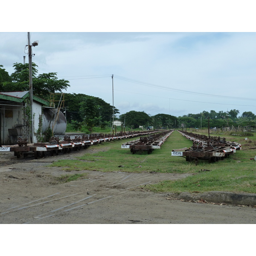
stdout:
MULTIPOLYGON (((33 111, 33 82, 32 82, 32 46, 37 46, 38 41, 34 41, 30 45, 30 33, 28 32, 28 47, 29 47, 29 99, 31 106, 31 143, 34 143, 33 134, 34 134, 34 111, 33 111)), ((33 54, 34 56, 34 54, 33 54)))

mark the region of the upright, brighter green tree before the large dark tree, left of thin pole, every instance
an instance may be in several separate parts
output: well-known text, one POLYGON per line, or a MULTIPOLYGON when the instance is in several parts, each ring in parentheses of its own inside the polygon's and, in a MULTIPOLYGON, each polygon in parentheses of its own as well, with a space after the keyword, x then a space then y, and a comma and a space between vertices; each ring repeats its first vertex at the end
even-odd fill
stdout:
POLYGON ((93 132, 93 127, 100 125, 100 106, 97 105, 96 99, 93 96, 87 96, 83 102, 79 103, 79 112, 83 118, 83 123, 90 133, 93 132))

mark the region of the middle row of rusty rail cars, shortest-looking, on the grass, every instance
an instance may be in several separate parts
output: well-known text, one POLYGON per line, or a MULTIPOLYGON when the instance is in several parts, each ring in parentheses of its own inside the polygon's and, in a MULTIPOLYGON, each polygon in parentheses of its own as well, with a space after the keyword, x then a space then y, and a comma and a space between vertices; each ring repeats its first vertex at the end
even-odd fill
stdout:
POLYGON ((132 140, 127 143, 123 143, 121 148, 130 148, 132 154, 143 151, 147 151, 148 154, 150 154, 154 149, 161 148, 163 143, 172 134, 173 131, 174 130, 166 130, 159 134, 140 137, 138 140, 132 140))

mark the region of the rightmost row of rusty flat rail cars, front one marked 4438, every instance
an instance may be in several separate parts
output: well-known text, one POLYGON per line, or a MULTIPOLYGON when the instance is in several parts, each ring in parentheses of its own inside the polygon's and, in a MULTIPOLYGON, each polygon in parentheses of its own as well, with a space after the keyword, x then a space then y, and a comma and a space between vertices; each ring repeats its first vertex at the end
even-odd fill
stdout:
POLYGON ((179 131, 187 139, 193 141, 190 148, 173 149, 172 156, 185 157, 186 161, 208 160, 209 163, 223 160, 230 154, 241 150, 241 144, 226 141, 221 137, 208 137, 201 134, 193 134, 179 131))

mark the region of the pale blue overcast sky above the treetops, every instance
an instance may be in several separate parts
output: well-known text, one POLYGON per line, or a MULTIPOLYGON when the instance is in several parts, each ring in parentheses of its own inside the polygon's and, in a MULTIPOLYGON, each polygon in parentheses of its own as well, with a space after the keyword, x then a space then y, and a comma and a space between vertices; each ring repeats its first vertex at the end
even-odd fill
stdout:
MULTIPOLYGON (((115 31, 104 27, 108 19, 100 22, 94 31, 115 31)), ((128 31, 137 31, 136 25, 128 31)), ((183 116, 231 109, 256 114, 256 33, 174 31, 31 32, 31 43, 39 41, 32 61, 39 74, 55 72, 58 79, 70 81, 64 93, 96 96, 111 105, 113 74, 114 106, 120 114, 134 110, 183 116)), ((28 62, 26 44, 27 32, 0 32, 0 64, 10 75, 24 55, 28 62)))

